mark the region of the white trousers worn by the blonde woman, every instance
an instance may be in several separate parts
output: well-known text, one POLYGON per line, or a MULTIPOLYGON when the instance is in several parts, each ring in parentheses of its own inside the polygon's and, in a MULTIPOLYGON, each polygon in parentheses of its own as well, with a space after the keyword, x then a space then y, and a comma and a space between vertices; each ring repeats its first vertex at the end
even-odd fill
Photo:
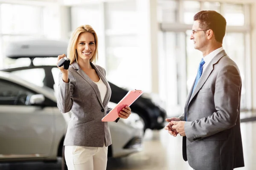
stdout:
POLYGON ((65 146, 68 170, 106 170, 108 147, 65 146))

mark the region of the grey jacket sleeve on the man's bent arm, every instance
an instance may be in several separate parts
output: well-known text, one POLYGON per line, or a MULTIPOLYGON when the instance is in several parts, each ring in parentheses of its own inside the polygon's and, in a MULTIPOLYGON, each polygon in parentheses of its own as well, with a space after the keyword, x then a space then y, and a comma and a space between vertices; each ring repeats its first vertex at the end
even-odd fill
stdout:
POLYGON ((214 103, 216 112, 193 122, 185 122, 186 138, 202 139, 236 125, 241 96, 241 77, 234 65, 219 71, 215 82, 214 103))

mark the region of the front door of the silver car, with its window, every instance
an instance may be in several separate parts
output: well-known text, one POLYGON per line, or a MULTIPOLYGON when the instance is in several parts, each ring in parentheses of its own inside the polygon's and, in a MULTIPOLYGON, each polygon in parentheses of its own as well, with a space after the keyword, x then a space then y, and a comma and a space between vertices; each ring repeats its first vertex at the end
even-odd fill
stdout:
POLYGON ((31 105, 35 92, 0 79, 0 159, 46 157, 54 136, 51 107, 31 105))

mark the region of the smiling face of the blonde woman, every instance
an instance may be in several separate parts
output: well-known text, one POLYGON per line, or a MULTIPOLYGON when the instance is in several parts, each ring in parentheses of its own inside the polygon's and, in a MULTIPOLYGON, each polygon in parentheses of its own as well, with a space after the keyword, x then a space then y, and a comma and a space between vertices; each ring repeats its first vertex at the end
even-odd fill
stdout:
POLYGON ((95 52, 95 39, 92 33, 81 33, 77 39, 76 51, 78 58, 90 60, 95 52))

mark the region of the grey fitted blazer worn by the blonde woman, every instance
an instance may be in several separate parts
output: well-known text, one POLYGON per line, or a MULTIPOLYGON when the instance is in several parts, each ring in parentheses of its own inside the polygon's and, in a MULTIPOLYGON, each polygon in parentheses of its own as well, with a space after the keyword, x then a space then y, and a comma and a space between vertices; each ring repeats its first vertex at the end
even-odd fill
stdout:
POLYGON ((64 145, 85 147, 103 147, 112 144, 108 122, 101 119, 111 110, 108 102, 111 97, 111 88, 106 80, 105 69, 93 65, 99 77, 107 86, 104 101, 98 86, 84 73, 77 62, 73 62, 69 69, 69 82, 62 80, 59 74, 58 108, 61 113, 71 112, 64 145))

